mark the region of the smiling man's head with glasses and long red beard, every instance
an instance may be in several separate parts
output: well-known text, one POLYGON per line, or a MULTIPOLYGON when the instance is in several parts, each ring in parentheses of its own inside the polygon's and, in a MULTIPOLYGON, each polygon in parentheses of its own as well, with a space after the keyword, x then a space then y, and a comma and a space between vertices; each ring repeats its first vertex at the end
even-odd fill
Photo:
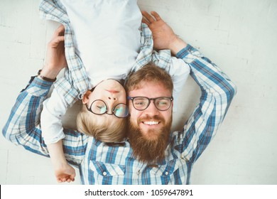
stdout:
POLYGON ((145 163, 165 156, 172 124, 173 82, 165 70, 146 65, 129 77, 128 138, 133 153, 145 163), (131 97, 130 97, 131 96, 131 97))

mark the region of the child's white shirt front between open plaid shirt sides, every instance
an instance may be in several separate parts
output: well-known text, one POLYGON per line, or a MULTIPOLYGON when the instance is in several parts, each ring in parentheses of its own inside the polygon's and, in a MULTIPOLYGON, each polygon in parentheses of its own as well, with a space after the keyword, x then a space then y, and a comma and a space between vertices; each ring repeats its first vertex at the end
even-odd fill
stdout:
POLYGON ((105 79, 125 79, 141 48, 142 16, 136 0, 60 1, 91 87, 105 79))

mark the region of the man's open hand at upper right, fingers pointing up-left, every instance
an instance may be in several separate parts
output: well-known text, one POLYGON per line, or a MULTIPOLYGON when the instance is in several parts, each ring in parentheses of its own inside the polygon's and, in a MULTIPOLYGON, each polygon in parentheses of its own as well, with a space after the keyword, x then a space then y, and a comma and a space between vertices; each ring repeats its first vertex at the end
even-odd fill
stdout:
POLYGON ((144 16, 142 22, 146 23, 152 31, 154 48, 158 50, 170 49, 173 54, 176 54, 187 46, 187 43, 178 38, 173 29, 155 11, 151 12, 152 16, 146 11, 141 13, 144 16))

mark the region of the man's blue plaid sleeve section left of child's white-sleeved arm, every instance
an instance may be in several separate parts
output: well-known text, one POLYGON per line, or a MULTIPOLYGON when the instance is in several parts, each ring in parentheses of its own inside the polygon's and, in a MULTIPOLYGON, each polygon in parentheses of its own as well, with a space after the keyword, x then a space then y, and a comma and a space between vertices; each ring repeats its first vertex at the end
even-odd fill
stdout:
POLYGON ((33 153, 48 156, 40 131, 39 114, 53 82, 37 77, 18 95, 8 121, 2 131, 4 137, 16 145, 22 145, 33 153))

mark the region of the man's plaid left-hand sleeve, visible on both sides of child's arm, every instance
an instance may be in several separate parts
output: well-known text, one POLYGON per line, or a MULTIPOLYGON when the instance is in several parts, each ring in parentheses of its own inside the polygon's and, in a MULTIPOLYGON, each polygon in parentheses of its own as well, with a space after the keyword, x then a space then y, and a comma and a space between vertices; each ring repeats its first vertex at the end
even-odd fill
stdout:
MULTIPOLYGON (((34 78, 25 90, 21 91, 11 109, 2 133, 13 144, 42 156, 49 156, 47 146, 41 135, 40 112, 52 82, 34 78)), ((65 158, 75 165, 85 156, 87 136, 77 131, 64 129, 63 149, 65 158)))

